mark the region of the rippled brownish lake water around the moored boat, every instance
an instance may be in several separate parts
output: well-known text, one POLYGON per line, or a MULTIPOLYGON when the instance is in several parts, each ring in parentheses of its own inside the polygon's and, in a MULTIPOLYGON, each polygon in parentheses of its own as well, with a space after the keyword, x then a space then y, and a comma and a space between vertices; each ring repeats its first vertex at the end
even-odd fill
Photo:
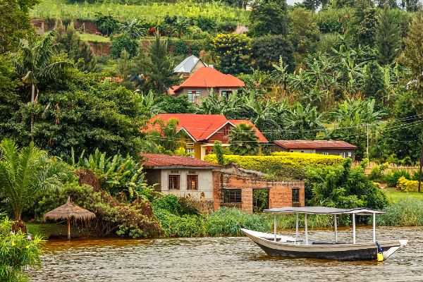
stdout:
MULTIPOLYGON (((269 257, 245 237, 49 241, 43 269, 30 275, 33 281, 423 281, 422 232, 377 228, 377 240, 409 240, 382 263, 269 257)), ((352 230, 338 236, 350 242, 352 230)), ((309 239, 333 237, 331 230, 309 231, 309 239)), ((357 242, 367 238, 372 229, 358 228, 357 242)))

